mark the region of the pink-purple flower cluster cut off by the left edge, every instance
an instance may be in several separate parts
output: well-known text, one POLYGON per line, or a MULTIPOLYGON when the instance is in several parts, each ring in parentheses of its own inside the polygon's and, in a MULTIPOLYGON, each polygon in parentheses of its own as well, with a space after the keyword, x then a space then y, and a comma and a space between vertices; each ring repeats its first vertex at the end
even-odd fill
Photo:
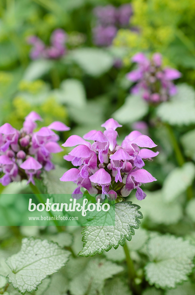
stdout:
POLYGON ((47 127, 34 132, 35 121, 42 121, 36 112, 25 117, 21 130, 16 130, 9 123, 0 127, 0 178, 3 186, 12 181, 28 179, 34 184, 33 177, 39 177, 44 170, 54 169, 51 153, 59 153, 62 148, 57 143, 59 136, 52 130, 70 130, 64 123, 55 121, 47 127))

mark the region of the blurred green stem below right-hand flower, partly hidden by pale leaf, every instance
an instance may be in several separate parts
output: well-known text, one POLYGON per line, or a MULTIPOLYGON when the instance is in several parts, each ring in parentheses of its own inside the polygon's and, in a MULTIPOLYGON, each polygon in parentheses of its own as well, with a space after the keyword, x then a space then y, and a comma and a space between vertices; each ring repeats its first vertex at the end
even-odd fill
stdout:
MULTIPOLYGON (((179 147, 178 141, 176 139, 176 136, 175 136, 175 134, 173 132, 173 129, 168 124, 166 124, 166 127, 167 127, 167 130, 168 130, 168 133, 169 133, 170 141, 171 141, 173 149, 175 151, 175 155, 176 155, 178 165, 181 167, 185 163, 185 158, 184 158, 184 156, 183 156, 183 154, 182 154, 182 152, 180 150, 180 147, 179 147)), ((192 186, 189 186, 187 188, 186 194, 187 194, 187 199, 188 200, 193 198, 193 188, 192 188, 192 186)))

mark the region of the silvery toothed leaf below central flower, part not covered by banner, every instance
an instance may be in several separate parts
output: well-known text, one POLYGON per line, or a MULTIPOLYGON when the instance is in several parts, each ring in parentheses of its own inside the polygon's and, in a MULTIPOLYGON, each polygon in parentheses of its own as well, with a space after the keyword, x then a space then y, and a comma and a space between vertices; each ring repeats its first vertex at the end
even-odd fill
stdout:
POLYGON ((132 202, 121 202, 115 204, 115 226, 87 226, 82 231, 83 249, 79 256, 94 256, 115 249, 119 245, 125 245, 125 239, 131 240, 135 234, 133 228, 138 229, 140 220, 143 218, 140 207, 132 202))

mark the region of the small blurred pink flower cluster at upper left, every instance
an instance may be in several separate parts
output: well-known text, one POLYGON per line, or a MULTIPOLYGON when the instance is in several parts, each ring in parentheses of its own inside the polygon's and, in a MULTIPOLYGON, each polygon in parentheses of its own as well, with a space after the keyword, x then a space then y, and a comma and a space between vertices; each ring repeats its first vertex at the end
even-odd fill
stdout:
POLYGON ((33 45, 30 52, 30 57, 32 59, 60 58, 66 53, 66 47, 65 47, 66 39, 67 39, 67 35, 65 31, 62 29, 57 29, 52 32, 52 35, 50 38, 51 45, 48 47, 37 36, 30 36, 28 38, 28 43, 33 45))

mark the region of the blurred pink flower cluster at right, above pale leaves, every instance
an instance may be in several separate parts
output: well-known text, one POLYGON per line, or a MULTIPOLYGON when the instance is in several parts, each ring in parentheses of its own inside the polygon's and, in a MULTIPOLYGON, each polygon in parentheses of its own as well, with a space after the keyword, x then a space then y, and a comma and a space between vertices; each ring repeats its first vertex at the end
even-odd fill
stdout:
POLYGON ((162 68, 162 56, 155 53, 151 60, 143 53, 137 53, 132 61, 137 63, 136 70, 127 74, 130 81, 136 82, 131 92, 134 94, 142 91, 143 99, 152 103, 166 101, 177 93, 173 80, 181 77, 181 73, 173 68, 162 68))

